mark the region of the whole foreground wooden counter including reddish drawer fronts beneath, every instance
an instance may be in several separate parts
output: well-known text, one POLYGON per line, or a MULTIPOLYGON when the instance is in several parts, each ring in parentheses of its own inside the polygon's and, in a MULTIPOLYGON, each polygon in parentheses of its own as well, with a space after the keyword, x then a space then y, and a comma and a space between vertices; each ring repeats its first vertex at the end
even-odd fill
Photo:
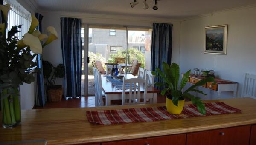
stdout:
POLYGON ((256 100, 235 98, 204 102, 224 102, 242 112, 156 122, 93 125, 87 120, 88 110, 165 104, 23 110, 21 126, 0 128, 0 144, 45 139, 47 145, 256 145, 256 100))

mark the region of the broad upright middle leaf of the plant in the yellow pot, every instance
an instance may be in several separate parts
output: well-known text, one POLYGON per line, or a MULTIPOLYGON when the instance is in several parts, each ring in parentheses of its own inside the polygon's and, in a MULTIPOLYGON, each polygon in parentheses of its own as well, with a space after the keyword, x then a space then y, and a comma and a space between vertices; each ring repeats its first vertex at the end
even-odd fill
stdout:
POLYGON ((170 76, 172 80, 172 85, 175 90, 177 90, 178 82, 180 80, 180 67, 176 63, 172 63, 170 67, 170 76))

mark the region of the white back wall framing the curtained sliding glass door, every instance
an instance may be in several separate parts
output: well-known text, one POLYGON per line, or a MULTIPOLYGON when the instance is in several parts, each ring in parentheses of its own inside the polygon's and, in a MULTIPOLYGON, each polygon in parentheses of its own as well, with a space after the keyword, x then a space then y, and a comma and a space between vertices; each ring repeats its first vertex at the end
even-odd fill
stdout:
MULTIPOLYGON (((58 32, 58 40, 55 40, 50 45, 46 46, 43 50, 43 58, 51 62, 53 65, 63 63, 61 51, 61 17, 78 17, 82 19, 82 23, 100 24, 100 25, 118 25, 118 26, 142 26, 152 27, 153 22, 156 23, 172 23, 172 61, 179 63, 180 51, 180 21, 160 18, 149 17, 129 17, 118 15, 105 15, 105 14, 86 14, 86 13, 73 13, 73 12, 42 12, 44 16, 42 20, 43 32, 47 33, 47 27, 53 26, 58 32)), ((61 85, 62 80, 56 81, 61 85)))

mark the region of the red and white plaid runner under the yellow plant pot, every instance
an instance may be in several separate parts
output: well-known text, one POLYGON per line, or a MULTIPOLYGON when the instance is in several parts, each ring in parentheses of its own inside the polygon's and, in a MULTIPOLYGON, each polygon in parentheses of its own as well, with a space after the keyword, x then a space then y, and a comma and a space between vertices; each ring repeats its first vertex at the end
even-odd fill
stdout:
POLYGON ((131 122, 152 122, 159 120, 180 119, 199 116, 210 116, 218 114, 230 114, 241 112, 224 102, 205 103, 206 114, 198 112, 195 105, 184 105, 183 111, 179 115, 169 114, 166 106, 130 108, 119 110, 86 111, 88 121, 99 125, 112 125, 131 122))

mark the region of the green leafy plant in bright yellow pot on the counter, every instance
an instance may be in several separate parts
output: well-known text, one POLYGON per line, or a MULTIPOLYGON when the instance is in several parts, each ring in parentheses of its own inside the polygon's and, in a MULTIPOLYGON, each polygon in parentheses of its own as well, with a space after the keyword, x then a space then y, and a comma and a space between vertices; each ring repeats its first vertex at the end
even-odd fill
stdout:
MULTIPOLYGON (((215 83, 213 77, 207 77, 204 80, 201 80, 191 87, 189 87, 187 90, 183 90, 184 86, 189 80, 189 74, 190 71, 187 71, 181 81, 180 86, 178 86, 179 80, 180 80, 180 67, 176 63, 172 63, 170 66, 163 62, 163 72, 157 68, 157 71, 152 71, 152 74, 156 75, 157 77, 160 77, 163 79, 163 82, 156 82, 155 85, 162 86, 163 90, 161 91, 161 94, 163 96, 166 96, 166 108, 167 111, 170 114, 180 114, 184 107, 185 98, 189 98, 192 101, 192 104, 196 105, 198 108, 198 111, 201 114, 205 114, 205 107, 204 103, 202 102, 200 97, 195 97, 189 92, 198 92, 201 94, 204 94, 202 91, 195 89, 197 86, 201 86, 206 84, 207 82, 213 82, 215 83)), ((204 94, 206 95, 206 94, 204 94)))

